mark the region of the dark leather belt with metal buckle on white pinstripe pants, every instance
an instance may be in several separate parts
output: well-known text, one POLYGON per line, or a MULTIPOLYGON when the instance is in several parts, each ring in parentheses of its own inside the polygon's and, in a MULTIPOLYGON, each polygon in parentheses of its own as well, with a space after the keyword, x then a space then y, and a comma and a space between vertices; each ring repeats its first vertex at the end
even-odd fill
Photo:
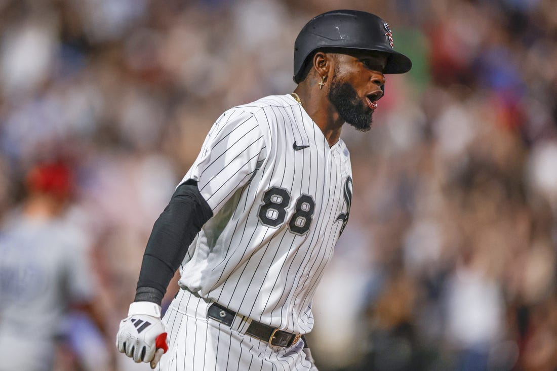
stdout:
MULTIPOLYGON (((207 316, 219 321, 222 324, 231 326, 234 318, 236 317, 236 312, 214 302, 209 306, 207 316)), ((272 328, 271 326, 262 324, 261 322, 257 322, 255 320, 251 320, 250 326, 248 326, 246 330, 246 334, 261 341, 265 341, 271 346, 284 347, 290 347, 296 344, 302 336, 272 328)))

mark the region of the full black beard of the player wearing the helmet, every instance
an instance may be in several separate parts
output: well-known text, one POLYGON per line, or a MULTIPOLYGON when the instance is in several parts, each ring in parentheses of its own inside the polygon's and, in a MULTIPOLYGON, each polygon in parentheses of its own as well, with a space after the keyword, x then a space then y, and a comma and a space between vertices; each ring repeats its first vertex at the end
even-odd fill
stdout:
POLYGON ((339 82, 333 79, 328 97, 340 118, 347 124, 359 131, 368 131, 372 128, 373 111, 363 104, 350 82, 339 82))

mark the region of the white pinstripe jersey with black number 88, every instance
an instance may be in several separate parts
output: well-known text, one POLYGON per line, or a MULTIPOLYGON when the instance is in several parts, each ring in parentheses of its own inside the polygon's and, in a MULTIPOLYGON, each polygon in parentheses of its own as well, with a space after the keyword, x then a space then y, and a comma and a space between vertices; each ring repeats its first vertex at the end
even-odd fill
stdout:
POLYGON ((218 118, 190 178, 213 217, 189 246, 179 284, 251 319, 309 332, 311 298, 348 221, 344 142, 329 148, 291 95, 268 96, 218 118))

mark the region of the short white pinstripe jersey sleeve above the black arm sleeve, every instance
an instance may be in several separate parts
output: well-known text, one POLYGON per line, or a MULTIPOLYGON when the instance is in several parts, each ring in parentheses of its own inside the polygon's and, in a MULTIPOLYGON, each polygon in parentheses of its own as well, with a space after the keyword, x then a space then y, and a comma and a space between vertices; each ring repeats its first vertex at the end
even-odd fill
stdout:
POLYGON ((196 180, 214 215, 252 179, 265 155, 265 138, 255 116, 240 109, 229 110, 214 123, 181 183, 196 180))

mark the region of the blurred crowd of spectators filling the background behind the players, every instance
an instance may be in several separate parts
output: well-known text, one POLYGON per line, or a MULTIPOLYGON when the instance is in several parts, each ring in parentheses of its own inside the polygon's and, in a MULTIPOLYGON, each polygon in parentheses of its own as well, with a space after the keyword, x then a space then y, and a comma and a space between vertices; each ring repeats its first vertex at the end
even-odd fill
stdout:
POLYGON ((2 0, 0 246, 36 215, 33 172, 62 164, 63 209, 41 217, 82 235, 92 276, 56 370, 148 369, 112 342, 153 222, 222 111, 294 90, 296 35, 334 8, 386 19, 413 69, 387 75, 369 133, 343 131, 354 198, 314 301, 317 366, 557 369, 555 1, 2 0))

